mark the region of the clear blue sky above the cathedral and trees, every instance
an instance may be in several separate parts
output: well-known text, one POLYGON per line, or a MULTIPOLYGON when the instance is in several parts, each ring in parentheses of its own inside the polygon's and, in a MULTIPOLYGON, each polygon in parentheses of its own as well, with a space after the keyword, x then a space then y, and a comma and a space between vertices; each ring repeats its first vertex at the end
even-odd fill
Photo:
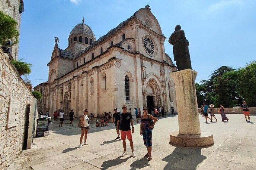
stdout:
MULTIPOLYGON (((165 41, 165 52, 173 59, 169 36, 181 25, 189 40, 196 82, 208 79, 220 66, 239 68, 255 60, 256 1, 254 0, 148 0, 165 41)), ((146 0, 24 0, 21 17, 19 58, 32 63, 28 76, 33 86, 48 79, 54 37, 59 48, 68 45, 70 31, 82 22, 96 39, 146 6, 146 0)))

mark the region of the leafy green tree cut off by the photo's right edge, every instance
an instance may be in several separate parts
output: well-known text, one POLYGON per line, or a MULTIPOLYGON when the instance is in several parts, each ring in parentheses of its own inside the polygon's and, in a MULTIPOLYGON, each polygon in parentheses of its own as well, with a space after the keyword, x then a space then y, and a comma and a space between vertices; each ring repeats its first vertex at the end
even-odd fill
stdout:
POLYGON ((250 107, 256 107, 256 61, 238 69, 237 92, 250 107))

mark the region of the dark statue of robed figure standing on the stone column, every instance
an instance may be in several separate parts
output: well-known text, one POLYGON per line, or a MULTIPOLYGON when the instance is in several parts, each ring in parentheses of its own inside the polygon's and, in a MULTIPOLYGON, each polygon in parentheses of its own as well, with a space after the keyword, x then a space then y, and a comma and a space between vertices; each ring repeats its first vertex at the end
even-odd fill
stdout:
POLYGON ((189 42, 180 25, 175 26, 175 31, 171 34, 169 43, 173 45, 174 61, 176 61, 178 70, 192 69, 188 50, 189 42))

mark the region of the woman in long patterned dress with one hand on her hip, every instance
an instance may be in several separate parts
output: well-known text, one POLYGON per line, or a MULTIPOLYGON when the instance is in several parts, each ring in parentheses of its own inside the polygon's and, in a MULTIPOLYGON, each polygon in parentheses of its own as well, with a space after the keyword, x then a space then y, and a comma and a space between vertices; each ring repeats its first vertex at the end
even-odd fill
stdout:
POLYGON ((140 135, 143 136, 144 145, 147 147, 147 154, 144 158, 148 157, 148 160, 152 160, 152 128, 154 128, 156 119, 148 114, 148 107, 143 107, 143 115, 141 116, 140 123, 140 135), (150 125, 150 122, 153 121, 153 125, 150 125))

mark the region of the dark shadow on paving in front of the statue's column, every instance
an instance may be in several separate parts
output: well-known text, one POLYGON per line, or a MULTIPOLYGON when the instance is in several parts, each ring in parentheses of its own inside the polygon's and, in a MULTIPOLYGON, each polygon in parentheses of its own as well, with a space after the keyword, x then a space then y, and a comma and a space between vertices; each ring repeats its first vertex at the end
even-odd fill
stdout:
MULTIPOLYGON (((169 144, 175 146, 171 143, 169 144)), ((207 158, 201 154, 202 148, 206 147, 175 147, 176 148, 170 155, 161 159, 162 161, 168 162, 164 169, 196 169, 198 165, 207 158)))

